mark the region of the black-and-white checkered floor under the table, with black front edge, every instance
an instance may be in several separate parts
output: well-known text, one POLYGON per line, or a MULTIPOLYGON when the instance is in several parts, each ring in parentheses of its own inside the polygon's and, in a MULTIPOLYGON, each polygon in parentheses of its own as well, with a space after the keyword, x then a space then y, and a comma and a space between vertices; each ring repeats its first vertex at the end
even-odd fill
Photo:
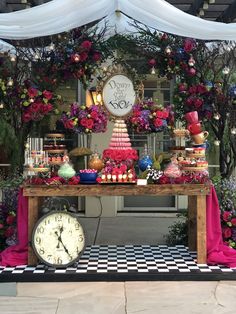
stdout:
MULTIPOLYGON (((63 281, 76 280, 139 280, 141 275, 155 275, 153 279, 158 280, 158 275, 222 275, 230 274, 230 278, 236 279, 236 269, 225 266, 208 266, 196 263, 196 252, 188 251, 185 246, 167 247, 166 245, 125 245, 125 246, 99 246, 93 245, 86 247, 83 255, 76 265, 55 269, 39 264, 33 266, 3 267, 0 266, 0 281, 63 281), (125 276, 125 274, 127 276, 125 276), (37 275, 37 276, 36 276, 37 275), (52 277, 53 275, 53 277, 52 277), (66 276, 69 276, 66 278, 66 276), (76 277, 77 275, 77 277, 76 277), (86 277, 90 275, 90 277, 86 277), (92 276, 91 276, 92 275, 92 276), (100 276, 99 276, 100 275, 100 276), (104 275, 104 276, 102 276, 104 275), (109 277, 106 277, 109 275, 109 277), (131 276, 130 276, 131 275, 131 276), (96 277, 97 276, 97 277, 96 277), (12 280, 10 280, 12 278, 12 280)), ((152 279, 144 276, 144 279, 152 279)), ((161 276, 161 278, 165 278, 161 276)), ((190 280, 189 277, 172 277, 180 280, 190 280)), ((204 280, 204 277, 196 277, 196 280, 204 280)), ((221 277, 207 277, 207 280, 221 279, 221 277)), ((163 280, 163 279, 162 279, 163 280)), ((167 279, 169 280, 169 279, 167 279)), ((174 280, 174 279, 172 279, 174 280)), ((193 279, 194 280, 194 279, 193 279)))

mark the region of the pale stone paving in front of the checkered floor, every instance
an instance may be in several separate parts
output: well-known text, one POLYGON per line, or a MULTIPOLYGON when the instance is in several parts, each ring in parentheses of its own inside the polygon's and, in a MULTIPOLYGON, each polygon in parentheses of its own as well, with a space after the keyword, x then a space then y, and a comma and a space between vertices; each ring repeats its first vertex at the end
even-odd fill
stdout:
POLYGON ((4 314, 235 314, 236 281, 0 283, 4 314))

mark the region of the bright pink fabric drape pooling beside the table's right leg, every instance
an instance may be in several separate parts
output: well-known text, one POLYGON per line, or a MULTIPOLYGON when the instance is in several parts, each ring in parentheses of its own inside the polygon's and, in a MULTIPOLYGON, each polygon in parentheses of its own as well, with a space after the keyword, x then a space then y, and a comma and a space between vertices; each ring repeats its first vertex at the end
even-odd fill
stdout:
POLYGON ((207 196, 207 263, 236 267, 236 250, 223 243, 220 208, 215 188, 207 196))

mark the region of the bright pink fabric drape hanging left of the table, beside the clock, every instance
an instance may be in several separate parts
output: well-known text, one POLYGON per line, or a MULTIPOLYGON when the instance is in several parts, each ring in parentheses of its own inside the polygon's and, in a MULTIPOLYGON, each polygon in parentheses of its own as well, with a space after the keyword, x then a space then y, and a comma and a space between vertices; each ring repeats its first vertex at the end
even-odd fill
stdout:
POLYGON ((28 198, 23 196, 21 189, 17 208, 18 244, 12 245, 0 253, 0 265, 27 265, 28 256, 28 198))

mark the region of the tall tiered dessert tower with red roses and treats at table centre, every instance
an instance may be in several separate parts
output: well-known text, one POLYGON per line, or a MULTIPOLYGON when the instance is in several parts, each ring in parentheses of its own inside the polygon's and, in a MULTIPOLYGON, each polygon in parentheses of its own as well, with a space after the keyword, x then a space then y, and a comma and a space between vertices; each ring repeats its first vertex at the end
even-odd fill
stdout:
POLYGON ((135 179, 134 161, 138 154, 132 149, 126 123, 116 119, 109 144, 103 151, 105 167, 102 173, 103 182, 133 182, 135 179))

